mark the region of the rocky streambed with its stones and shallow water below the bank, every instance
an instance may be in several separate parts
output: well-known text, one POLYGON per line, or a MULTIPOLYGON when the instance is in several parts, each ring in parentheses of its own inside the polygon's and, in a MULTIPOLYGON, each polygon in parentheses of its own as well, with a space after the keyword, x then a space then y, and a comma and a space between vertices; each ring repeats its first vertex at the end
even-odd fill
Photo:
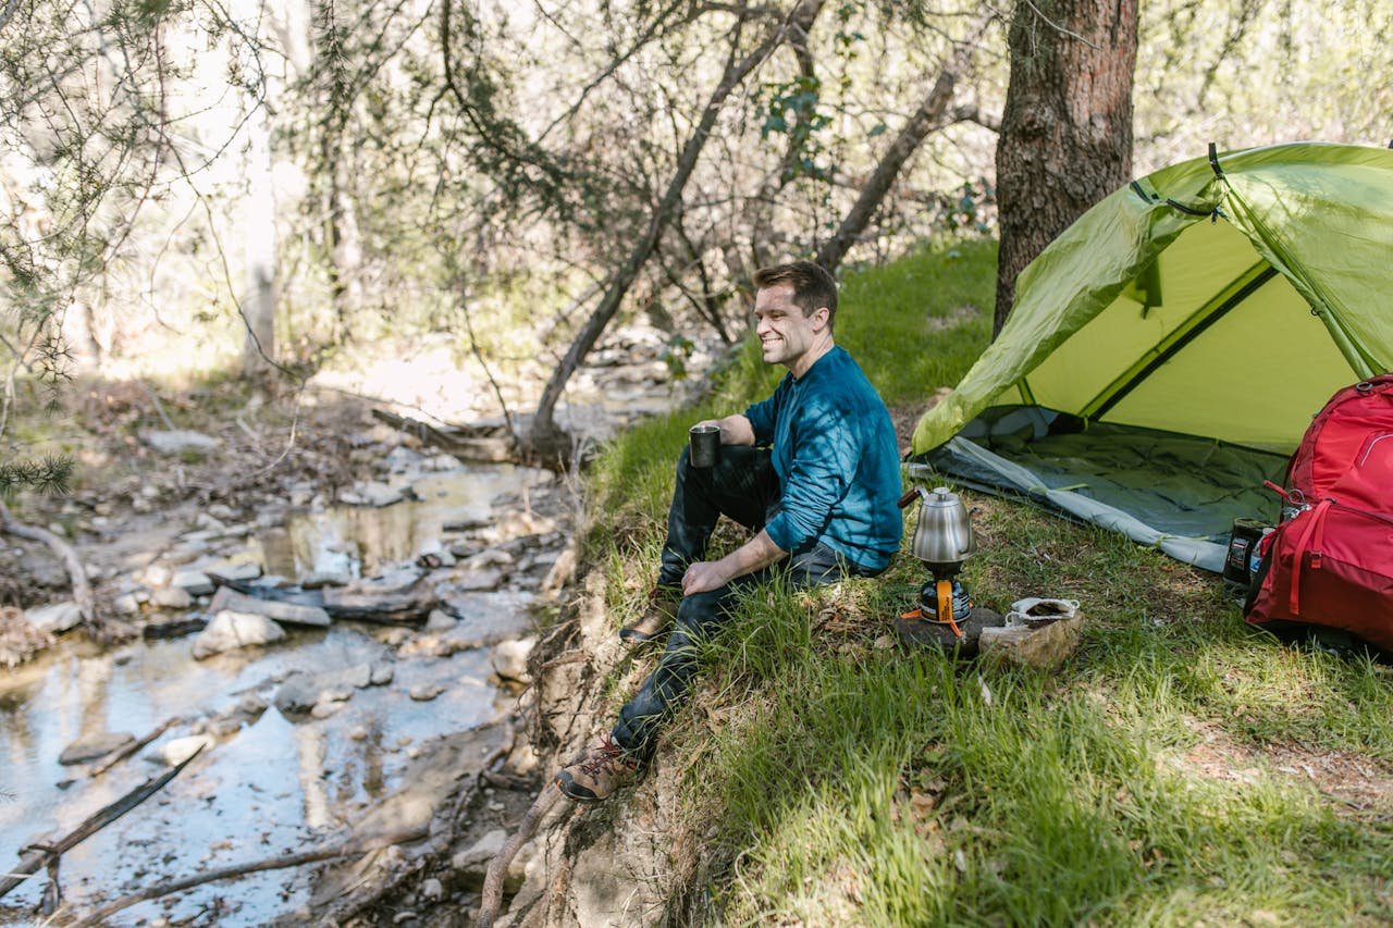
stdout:
MULTIPOLYGON (((57 644, 0 677, 0 853, 52 846, 187 766, 67 850, 56 881, 40 868, 20 882, 0 924, 25 921, 54 885, 64 924, 169 881, 411 836, 354 856, 364 871, 343 882, 269 869, 109 918, 302 924, 439 853, 432 829, 450 830, 451 803, 478 805, 479 837, 525 805, 517 782, 488 778, 514 748, 539 612, 573 562, 573 493, 549 471, 465 465, 390 429, 355 442, 378 461, 372 479, 333 496, 304 479, 255 511, 152 513, 111 546, 96 570, 138 640, 99 648, 63 634, 75 620, 63 603, 29 612, 57 644)), ((521 751, 511 778, 532 765, 521 751)), ((457 863, 482 879, 488 847, 457 863)), ((444 900, 443 885, 426 892, 444 900)))

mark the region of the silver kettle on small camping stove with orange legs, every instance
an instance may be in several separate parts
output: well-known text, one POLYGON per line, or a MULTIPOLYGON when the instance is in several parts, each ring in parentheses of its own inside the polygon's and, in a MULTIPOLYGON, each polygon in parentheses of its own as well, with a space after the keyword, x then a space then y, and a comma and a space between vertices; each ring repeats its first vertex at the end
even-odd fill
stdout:
POLYGON ((963 562, 976 552, 972 517, 957 493, 946 486, 932 492, 915 486, 900 497, 900 509, 919 499, 919 524, 914 529, 912 553, 929 569, 929 581, 919 589, 919 606, 900 616, 900 635, 925 642, 943 637, 961 641, 961 623, 972 613, 972 599, 958 580, 963 562))

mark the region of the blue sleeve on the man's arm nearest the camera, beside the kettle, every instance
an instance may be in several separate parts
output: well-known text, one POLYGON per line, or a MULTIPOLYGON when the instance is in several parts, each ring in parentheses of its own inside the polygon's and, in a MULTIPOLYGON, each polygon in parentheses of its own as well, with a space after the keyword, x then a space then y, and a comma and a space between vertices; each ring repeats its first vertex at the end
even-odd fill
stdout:
POLYGON ((791 439, 793 465, 779 514, 765 525, 769 538, 787 552, 823 534, 861 461, 855 418, 832 405, 800 410, 791 439))

